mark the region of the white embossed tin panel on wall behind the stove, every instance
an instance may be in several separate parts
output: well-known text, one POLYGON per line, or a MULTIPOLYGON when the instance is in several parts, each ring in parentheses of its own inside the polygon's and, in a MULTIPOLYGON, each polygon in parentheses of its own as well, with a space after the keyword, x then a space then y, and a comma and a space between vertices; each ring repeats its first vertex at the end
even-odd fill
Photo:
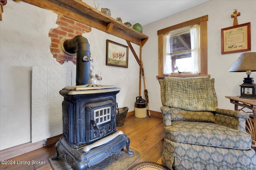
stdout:
POLYGON ((76 82, 76 69, 48 66, 32 68, 32 143, 62 134, 59 91, 76 82))

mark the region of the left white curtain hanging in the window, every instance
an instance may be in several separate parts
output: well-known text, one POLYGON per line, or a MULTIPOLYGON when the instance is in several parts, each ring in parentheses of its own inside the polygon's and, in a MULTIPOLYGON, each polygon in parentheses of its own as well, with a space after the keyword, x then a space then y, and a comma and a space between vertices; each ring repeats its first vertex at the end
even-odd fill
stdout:
POLYGON ((163 64, 164 64, 164 74, 170 74, 172 72, 171 67, 171 56, 170 53, 170 36, 169 34, 164 34, 164 49, 163 49, 163 64))

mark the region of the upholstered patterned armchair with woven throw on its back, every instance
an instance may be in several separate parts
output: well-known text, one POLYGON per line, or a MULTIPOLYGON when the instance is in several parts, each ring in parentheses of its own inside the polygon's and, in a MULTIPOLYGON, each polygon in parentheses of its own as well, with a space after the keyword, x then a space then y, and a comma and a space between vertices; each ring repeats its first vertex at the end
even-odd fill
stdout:
POLYGON ((174 170, 256 170, 246 113, 217 108, 214 79, 164 78, 162 162, 174 170))

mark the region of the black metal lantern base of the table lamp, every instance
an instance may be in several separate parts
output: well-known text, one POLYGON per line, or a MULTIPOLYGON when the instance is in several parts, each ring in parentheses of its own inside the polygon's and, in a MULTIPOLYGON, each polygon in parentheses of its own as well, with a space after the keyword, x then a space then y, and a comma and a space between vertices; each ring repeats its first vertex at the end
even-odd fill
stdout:
MULTIPOLYGON (((250 75, 250 74, 248 74, 250 75)), ((240 85, 241 96, 240 98, 256 99, 256 84, 253 78, 244 78, 244 83, 240 85)))

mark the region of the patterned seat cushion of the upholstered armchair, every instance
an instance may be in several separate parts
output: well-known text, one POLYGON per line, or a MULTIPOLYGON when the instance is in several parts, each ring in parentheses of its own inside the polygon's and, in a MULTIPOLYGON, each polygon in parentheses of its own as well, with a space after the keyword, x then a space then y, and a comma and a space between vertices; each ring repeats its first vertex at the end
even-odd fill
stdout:
POLYGON ((208 122, 172 121, 164 131, 166 139, 179 143, 241 150, 252 143, 248 133, 208 122))

